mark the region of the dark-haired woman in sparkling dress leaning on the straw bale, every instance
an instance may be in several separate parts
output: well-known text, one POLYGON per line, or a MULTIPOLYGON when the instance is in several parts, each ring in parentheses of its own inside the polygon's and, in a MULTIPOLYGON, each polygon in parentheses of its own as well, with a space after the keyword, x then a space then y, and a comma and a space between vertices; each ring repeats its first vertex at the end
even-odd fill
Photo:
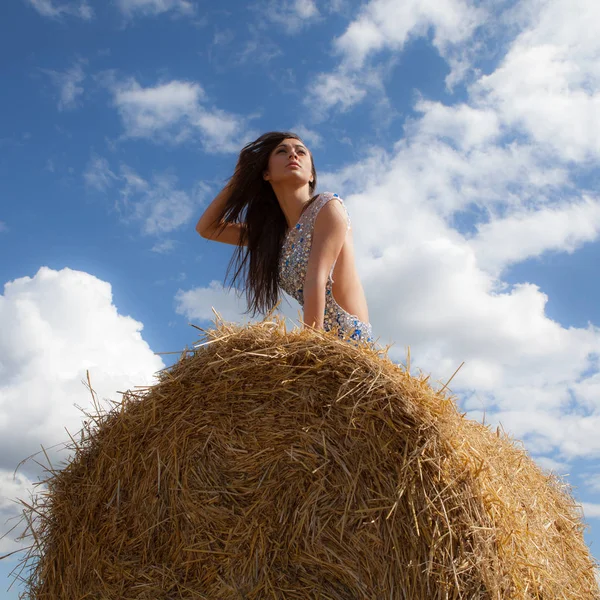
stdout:
POLYGON ((312 154, 302 140, 294 133, 265 133, 243 148, 196 231, 237 246, 225 275, 236 260, 232 286, 249 261, 246 298, 253 314, 271 310, 283 289, 303 307, 305 325, 337 327, 340 337, 371 343, 350 217, 337 194, 315 195, 316 184, 312 154))

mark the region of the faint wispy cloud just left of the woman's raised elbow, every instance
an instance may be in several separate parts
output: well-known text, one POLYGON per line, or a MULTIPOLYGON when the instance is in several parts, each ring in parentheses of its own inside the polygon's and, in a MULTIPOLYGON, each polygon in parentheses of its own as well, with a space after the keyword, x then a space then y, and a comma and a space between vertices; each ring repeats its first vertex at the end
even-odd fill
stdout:
MULTIPOLYGON (((177 188, 177 178, 170 173, 155 174, 147 181, 134 169, 121 164, 119 174, 113 172, 106 158, 94 155, 83 174, 86 185, 104 193, 115 192, 115 206, 127 223, 140 226, 146 235, 168 234, 190 222, 208 187, 198 183, 191 191, 177 188)), ((165 242, 157 252, 172 249, 165 242)))

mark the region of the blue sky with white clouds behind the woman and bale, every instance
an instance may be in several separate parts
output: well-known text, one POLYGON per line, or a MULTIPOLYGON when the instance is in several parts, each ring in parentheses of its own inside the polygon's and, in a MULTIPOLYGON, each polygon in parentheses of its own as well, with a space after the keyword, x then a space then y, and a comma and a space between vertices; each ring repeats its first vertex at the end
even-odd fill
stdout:
POLYGON ((86 369, 118 398, 211 307, 248 320, 233 248, 194 225, 244 143, 284 129, 346 201, 379 343, 434 381, 464 361, 462 408, 566 477, 600 558, 600 5, 213 6, 0 8, 2 522, 39 475, 19 461, 79 429, 86 369))

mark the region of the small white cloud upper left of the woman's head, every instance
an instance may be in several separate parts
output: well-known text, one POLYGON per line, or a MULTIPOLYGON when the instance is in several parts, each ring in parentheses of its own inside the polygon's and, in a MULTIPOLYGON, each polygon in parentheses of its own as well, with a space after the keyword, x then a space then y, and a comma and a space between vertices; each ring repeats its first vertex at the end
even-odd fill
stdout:
POLYGON ((246 119, 206 105, 198 83, 170 81, 142 87, 108 78, 125 136, 179 144, 200 140, 206 152, 236 152, 248 140, 246 119))

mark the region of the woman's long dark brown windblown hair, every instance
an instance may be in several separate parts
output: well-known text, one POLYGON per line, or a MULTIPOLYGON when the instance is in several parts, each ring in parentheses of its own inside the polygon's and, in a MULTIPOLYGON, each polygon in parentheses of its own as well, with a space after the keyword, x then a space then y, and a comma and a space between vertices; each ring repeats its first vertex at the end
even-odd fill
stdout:
MULTIPOLYGON (((247 245, 237 246, 227 267, 225 280, 235 263, 237 270, 231 281, 231 289, 246 267, 248 310, 244 314, 252 310, 253 317, 257 312, 268 313, 279 301, 278 264, 287 221, 271 184, 263 179, 263 173, 268 168, 271 152, 289 138, 302 141, 295 133, 271 131, 244 146, 228 183, 229 199, 216 219, 217 223, 223 221, 221 231, 226 223, 246 224, 242 242, 247 245)), ((313 175, 313 181, 309 184, 312 202, 316 197, 317 172, 310 150, 309 154, 313 175)))

